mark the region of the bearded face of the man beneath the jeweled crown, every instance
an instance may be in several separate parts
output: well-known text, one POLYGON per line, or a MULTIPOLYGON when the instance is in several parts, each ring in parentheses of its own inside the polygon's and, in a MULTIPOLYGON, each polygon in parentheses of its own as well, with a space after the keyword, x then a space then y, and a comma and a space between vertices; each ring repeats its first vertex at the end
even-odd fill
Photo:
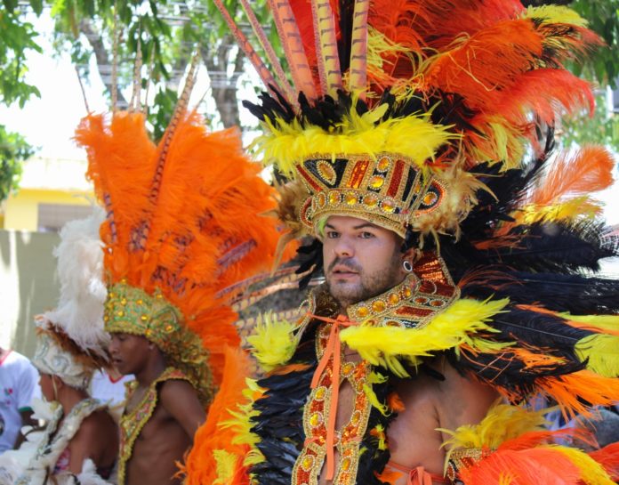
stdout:
POLYGON ((404 279, 402 239, 372 222, 332 215, 323 256, 329 292, 345 309, 395 287, 404 279))

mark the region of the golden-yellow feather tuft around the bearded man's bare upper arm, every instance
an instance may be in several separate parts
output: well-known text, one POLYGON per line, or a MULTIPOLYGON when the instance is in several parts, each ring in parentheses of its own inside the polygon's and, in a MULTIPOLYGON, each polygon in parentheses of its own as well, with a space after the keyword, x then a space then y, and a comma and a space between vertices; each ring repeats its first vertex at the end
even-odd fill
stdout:
POLYGON ((443 443, 448 449, 497 449, 504 441, 517 438, 525 432, 543 430, 548 409, 530 411, 510 404, 494 403, 479 424, 465 424, 455 431, 439 429, 451 435, 443 443))

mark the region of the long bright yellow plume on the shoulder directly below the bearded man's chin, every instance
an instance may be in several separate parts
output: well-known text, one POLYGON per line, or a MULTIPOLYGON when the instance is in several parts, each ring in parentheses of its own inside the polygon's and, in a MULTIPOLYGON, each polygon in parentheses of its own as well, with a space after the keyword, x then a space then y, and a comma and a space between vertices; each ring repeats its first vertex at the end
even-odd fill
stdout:
POLYGON ((486 325, 486 321, 508 303, 507 298, 486 302, 461 299, 424 327, 349 327, 342 330, 340 339, 374 366, 389 368, 397 376, 405 377, 408 374, 398 362, 398 357, 417 365, 419 358, 462 344, 485 352, 497 352, 507 346, 475 337, 474 334, 496 332, 486 325))

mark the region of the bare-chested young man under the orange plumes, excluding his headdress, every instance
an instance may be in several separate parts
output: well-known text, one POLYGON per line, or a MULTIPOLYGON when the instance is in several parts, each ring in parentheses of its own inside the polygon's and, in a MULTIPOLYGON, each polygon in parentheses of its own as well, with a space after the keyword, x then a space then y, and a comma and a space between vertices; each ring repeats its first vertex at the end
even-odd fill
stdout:
POLYGON ((119 372, 135 376, 120 420, 125 484, 180 483, 176 464, 205 420, 196 389, 144 336, 114 333, 109 353, 119 372))

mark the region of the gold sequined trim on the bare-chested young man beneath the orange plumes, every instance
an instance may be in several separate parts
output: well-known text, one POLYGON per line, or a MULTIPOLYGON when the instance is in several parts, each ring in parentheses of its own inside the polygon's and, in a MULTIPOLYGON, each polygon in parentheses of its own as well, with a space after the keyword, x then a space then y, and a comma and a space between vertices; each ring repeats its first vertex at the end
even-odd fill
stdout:
MULTIPOLYGON (((118 485, 125 485, 126 465, 133 455, 133 445, 140 436, 142 428, 149 422, 151 416, 157 408, 159 392, 157 385, 170 380, 186 380, 191 383, 188 376, 181 370, 176 368, 166 368, 165 371, 158 376, 149 385, 149 389, 144 393, 140 404, 138 404, 131 413, 123 415, 120 418, 120 449, 118 453, 118 485)), ((132 381, 127 385, 127 400, 131 397, 137 381, 132 381)))

